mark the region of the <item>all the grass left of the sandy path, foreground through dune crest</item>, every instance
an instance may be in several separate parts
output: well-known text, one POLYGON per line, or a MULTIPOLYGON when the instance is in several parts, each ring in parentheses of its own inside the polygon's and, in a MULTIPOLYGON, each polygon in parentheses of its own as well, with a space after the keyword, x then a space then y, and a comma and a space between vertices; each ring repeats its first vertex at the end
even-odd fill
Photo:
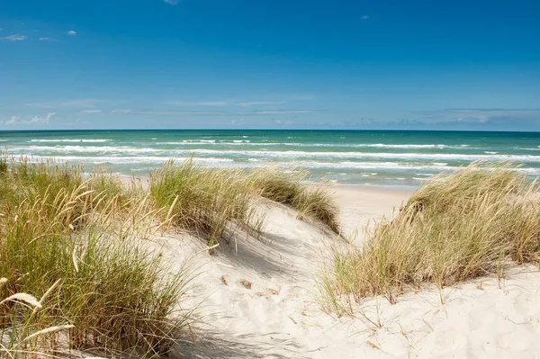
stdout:
POLYGON ((86 177, 79 166, 0 156, 0 358, 166 354, 191 320, 179 311, 189 275, 171 274, 140 238, 173 227, 212 247, 235 228, 260 229, 259 193, 338 230, 326 190, 274 168, 169 162, 145 189, 103 170, 86 177), (19 293, 37 300, 21 303, 19 293))

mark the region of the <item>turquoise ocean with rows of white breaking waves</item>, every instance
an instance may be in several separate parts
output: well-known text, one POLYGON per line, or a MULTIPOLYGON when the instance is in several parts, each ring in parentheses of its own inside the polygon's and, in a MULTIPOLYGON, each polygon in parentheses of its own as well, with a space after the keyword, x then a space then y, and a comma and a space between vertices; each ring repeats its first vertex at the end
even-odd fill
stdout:
POLYGON ((0 146, 31 160, 148 175, 194 155, 207 167, 304 169, 311 181, 418 187, 472 161, 509 161, 540 175, 540 133, 389 130, 41 130, 0 131, 0 146))

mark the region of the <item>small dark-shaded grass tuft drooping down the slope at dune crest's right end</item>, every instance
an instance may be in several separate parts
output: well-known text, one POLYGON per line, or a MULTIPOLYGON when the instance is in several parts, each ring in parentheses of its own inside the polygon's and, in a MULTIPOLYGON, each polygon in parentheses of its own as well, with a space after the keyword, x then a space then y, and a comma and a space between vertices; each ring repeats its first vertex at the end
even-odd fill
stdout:
POLYGON ((249 181, 261 196, 289 205, 301 216, 319 220, 338 233, 338 206, 326 188, 302 184, 305 176, 305 172, 294 175, 283 168, 266 167, 253 171, 249 181))

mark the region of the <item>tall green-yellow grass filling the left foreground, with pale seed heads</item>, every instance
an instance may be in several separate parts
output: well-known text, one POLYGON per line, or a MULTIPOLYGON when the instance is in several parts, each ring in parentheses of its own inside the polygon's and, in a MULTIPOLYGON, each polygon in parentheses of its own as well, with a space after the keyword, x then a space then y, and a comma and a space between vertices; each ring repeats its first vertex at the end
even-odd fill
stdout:
POLYGON ((1 162, 0 298, 41 299, 2 301, 0 357, 87 347, 155 357, 174 346, 188 320, 178 311, 187 276, 135 240, 157 215, 151 201, 119 201, 109 179, 85 180, 78 167, 1 162))

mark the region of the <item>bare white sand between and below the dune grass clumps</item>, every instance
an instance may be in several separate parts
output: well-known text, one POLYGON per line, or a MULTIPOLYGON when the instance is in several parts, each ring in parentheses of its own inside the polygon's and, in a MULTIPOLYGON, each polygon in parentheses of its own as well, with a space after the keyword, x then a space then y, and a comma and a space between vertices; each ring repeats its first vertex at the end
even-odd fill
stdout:
MULTIPOLYGON (((368 220, 392 215, 409 195, 338 187, 344 234, 355 237, 368 220)), ((178 267, 191 257, 199 268, 187 304, 202 302, 202 322, 194 343, 181 348, 188 358, 540 358, 535 268, 501 282, 406 294, 394 305, 375 298, 356 308, 356 318, 335 319, 320 310, 316 277, 344 241, 284 206, 264 207, 264 239, 240 236, 213 256, 195 238, 161 238, 178 267)))

